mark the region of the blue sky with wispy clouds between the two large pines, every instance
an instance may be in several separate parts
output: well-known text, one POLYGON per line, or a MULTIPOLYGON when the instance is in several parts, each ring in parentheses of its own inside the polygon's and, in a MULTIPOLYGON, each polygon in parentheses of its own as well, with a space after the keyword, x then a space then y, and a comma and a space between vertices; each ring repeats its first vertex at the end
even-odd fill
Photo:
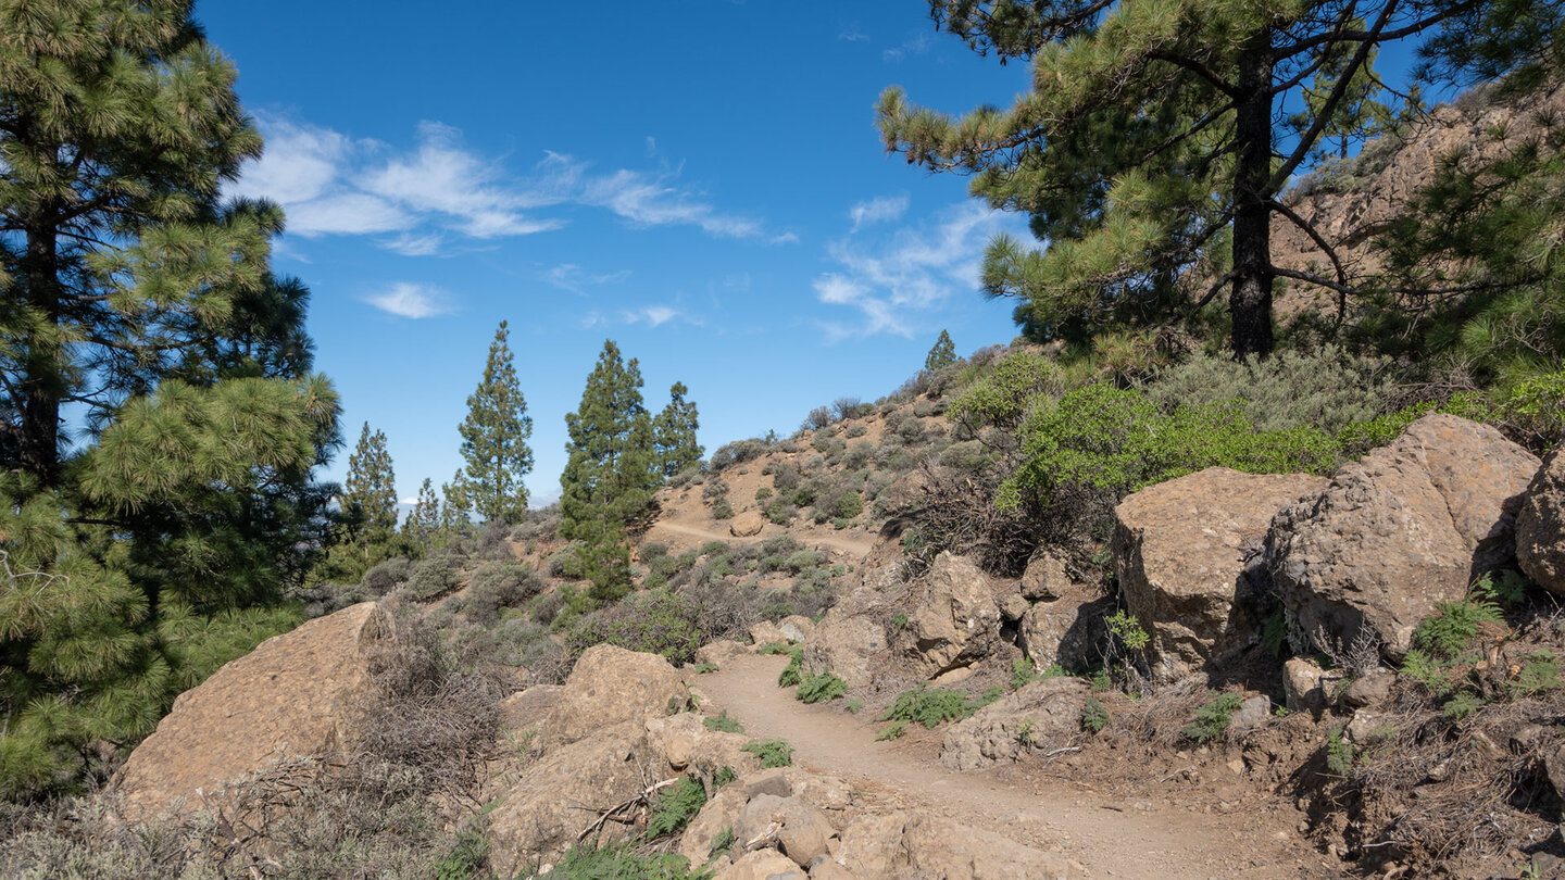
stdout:
POLYGON ((1009 105, 1027 67, 926 9, 210 0, 197 17, 266 136, 236 191, 288 213, 274 266, 313 291, 349 443, 385 431, 404 498, 449 481, 509 319, 537 503, 606 338, 640 359, 648 409, 690 387, 711 453, 892 391, 941 329, 959 352, 1014 335, 977 268, 1022 219, 887 155, 873 105, 889 85, 1009 105))

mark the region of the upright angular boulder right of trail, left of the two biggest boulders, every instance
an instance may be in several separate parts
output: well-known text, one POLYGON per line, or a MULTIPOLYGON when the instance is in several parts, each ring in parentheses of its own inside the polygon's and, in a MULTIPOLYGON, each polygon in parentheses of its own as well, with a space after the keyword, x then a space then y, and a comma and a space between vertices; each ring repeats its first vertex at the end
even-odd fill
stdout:
POLYGON ((989 578, 950 551, 934 557, 908 615, 914 659, 934 678, 989 656, 1000 645, 1000 608, 989 578))

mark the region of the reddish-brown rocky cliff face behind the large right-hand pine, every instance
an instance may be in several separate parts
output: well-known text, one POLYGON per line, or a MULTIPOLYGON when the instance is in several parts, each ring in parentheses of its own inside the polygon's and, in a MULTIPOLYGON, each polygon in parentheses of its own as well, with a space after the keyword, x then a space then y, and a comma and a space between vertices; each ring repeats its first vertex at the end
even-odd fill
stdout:
MULTIPOLYGON (((1460 157, 1463 168, 1480 168, 1545 138, 1559 125, 1557 119, 1565 119, 1565 85, 1526 96, 1499 96, 1493 86, 1477 86, 1404 130, 1371 141, 1358 157, 1299 179, 1283 202, 1332 246, 1349 282, 1363 280, 1380 268, 1371 246, 1374 236, 1434 182, 1441 163, 1460 157)), ((1335 277, 1326 252, 1282 216, 1272 219, 1272 261, 1335 277)), ((1335 291, 1293 282, 1279 299, 1279 310, 1286 315, 1310 305, 1335 308, 1335 291)))

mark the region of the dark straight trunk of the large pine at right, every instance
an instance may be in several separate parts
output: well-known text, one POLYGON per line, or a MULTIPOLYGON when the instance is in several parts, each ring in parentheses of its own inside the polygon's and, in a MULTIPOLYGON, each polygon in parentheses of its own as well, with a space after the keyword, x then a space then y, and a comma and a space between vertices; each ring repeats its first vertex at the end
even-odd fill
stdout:
POLYGON ((1233 171, 1233 357, 1272 351, 1271 271, 1271 30, 1255 34, 1239 63, 1233 171))

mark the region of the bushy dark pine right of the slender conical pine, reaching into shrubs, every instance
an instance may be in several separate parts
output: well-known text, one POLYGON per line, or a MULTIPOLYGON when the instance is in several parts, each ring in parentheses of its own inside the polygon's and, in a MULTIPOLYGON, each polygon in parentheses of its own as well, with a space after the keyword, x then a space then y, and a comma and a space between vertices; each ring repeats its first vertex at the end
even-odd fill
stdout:
POLYGON ((613 340, 604 341, 565 427, 570 459, 560 474, 560 534, 584 542, 581 561, 593 598, 613 600, 631 589, 626 525, 646 509, 660 482, 642 370, 635 359, 621 362, 613 340))

